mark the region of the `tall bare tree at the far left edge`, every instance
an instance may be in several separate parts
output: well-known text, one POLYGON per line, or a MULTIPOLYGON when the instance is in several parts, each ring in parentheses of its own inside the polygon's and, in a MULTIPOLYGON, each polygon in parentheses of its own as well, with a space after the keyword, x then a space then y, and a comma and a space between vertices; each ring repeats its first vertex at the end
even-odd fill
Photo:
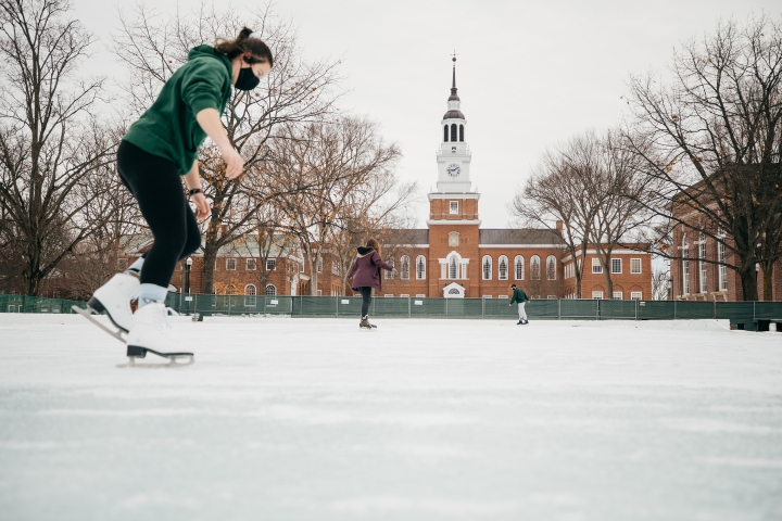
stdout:
POLYGON ((34 295, 103 223, 86 211, 116 144, 91 114, 102 80, 76 76, 92 37, 67 11, 63 0, 0 0, 0 242, 34 295))

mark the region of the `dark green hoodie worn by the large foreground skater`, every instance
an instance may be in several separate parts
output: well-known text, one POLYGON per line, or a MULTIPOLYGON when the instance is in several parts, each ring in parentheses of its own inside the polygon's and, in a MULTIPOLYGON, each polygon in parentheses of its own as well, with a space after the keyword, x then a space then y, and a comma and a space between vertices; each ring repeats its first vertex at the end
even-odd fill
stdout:
POLYGON ((192 48, 187 63, 168 78, 155 102, 123 139, 169 160, 179 167, 179 175, 186 175, 206 138, 195 114, 204 109, 223 114, 231 94, 232 74, 230 60, 211 46, 192 48))

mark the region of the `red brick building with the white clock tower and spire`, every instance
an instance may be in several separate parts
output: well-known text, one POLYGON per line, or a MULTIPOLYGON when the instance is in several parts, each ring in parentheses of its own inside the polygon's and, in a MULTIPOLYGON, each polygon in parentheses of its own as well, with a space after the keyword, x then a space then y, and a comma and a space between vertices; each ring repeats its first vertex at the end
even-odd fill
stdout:
MULTIPOLYGON (((404 240, 388 245, 394 253, 387 262, 399 274, 383 272, 382 294, 504 298, 510 294, 509 284, 516 282, 534 298, 572 296, 575 288, 570 287, 575 284, 566 277, 572 259, 565 256, 562 224, 557 230, 480 228, 480 194, 471 188, 471 151, 465 140, 467 122, 457 96, 455 65, 441 126, 437 190, 428 194, 428 228, 399 230, 404 240)), ((615 295, 651 298, 651 255, 619 250, 616 258, 613 264, 619 271, 611 274, 615 295)), ((600 293, 603 285, 602 272, 586 274, 584 296, 608 297, 600 293)))

